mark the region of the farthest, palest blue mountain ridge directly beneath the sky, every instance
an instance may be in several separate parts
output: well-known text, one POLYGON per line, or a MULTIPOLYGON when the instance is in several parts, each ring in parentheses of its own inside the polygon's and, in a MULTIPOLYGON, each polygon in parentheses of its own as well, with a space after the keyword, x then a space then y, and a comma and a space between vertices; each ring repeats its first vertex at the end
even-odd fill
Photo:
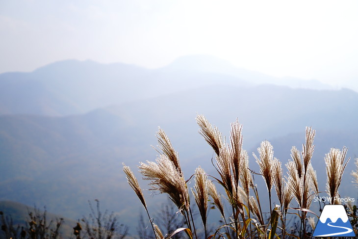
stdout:
POLYGON ((30 73, 0 74, 0 114, 64 116, 210 85, 277 83, 327 89, 318 81, 276 79, 215 57, 181 57, 148 70, 122 63, 66 60, 30 73))

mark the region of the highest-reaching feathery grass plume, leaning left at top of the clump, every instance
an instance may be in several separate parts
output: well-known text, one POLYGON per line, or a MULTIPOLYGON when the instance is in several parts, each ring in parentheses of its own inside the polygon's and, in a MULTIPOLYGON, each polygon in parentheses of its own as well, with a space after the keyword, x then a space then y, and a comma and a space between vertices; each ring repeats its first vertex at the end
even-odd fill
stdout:
POLYGON ((197 123, 200 127, 199 133, 205 138, 205 141, 213 148, 216 155, 220 154, 220 149, 223 147, 222 134, 217 127, 212 127, 204 115, 197 115, 197 123))

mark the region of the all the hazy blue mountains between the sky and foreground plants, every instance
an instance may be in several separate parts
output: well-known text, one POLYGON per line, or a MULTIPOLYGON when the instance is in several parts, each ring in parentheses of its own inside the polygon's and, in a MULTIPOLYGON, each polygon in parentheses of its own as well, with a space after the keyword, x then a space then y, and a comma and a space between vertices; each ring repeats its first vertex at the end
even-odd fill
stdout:
MULTIPOLYGON (((238 118, 256 171, 252 152, 257 155, 262 140, 271 141, 284 164, 312 126, 312 164, 325 191, 324 154, 343 145, 349 156, 358 154, 357 103, 358 93, 349 89, 275 79, 205 56, 183 57, 156 70, 69 60, 31 73, 1 74, 0 200, 47 205, 49 212, 77 219, 88 211, 87 200, 97 198, 133 230, 141 207, 122 162, 136 171, 139 161, 154 160, 158 126, 179 152, 186 178, 198 165, 213 173, 213 152, 198 133, 197 113, 227 136, 238 118)), ((342 196, 357 196, 350 191, 352 169, 353 160, 342 196)))

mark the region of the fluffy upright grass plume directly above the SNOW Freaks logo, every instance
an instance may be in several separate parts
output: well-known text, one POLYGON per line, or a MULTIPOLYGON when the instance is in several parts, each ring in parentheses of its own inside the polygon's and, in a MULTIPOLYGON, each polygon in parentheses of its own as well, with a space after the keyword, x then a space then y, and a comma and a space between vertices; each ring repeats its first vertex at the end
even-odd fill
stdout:
POLYGON ((342 175, 344 169, 347 166, 349 159, 345 160, 347 148, 343 147, 342 151, 339 149, 331 149, 328 154, 326 154, 326 171, 327 171, 327 190, 330 196, 333 198, 332 204, 339 204, 337 200, 334 200, 334 197, 339 196, 338 187, 342 181, 342 175))

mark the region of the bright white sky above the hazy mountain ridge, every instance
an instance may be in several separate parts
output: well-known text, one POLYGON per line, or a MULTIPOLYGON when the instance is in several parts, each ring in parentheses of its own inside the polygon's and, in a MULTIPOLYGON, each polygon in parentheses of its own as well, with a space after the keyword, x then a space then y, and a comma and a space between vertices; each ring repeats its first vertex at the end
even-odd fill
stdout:
POLYGON ((272 76, 352 85, 358 1, 0 0, 0 43, 0 73, 70 58, 157 68, 209 54, 272 76))

